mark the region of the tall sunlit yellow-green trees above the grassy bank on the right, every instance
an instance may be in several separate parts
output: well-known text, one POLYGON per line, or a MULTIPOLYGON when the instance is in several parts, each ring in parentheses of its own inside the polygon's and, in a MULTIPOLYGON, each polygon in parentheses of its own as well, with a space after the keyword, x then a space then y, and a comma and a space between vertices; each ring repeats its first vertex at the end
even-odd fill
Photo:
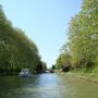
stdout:
MULTIPOLYGON (((68 45, 72 68, 98 68, 98 0, 83 0, 82 10, 71 20, 68 45)), ((63 50, 68 53, 66 47, 63 50)))

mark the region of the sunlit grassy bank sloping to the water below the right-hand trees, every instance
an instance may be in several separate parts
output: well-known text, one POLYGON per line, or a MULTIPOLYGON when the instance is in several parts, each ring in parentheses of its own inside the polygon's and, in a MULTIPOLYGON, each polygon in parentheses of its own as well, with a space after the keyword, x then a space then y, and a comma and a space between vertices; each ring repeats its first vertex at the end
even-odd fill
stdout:
POLYGON ((56 71, 56 72, 59 74, 65 74, 68 76, 72 76, 72 77, 78 77, 78 78, 86 79, 86 81, 98 84, 97 69, 94 71, 88 71, 88 72, 84 72, 84 71, 71 71, 71 72, 56 71))

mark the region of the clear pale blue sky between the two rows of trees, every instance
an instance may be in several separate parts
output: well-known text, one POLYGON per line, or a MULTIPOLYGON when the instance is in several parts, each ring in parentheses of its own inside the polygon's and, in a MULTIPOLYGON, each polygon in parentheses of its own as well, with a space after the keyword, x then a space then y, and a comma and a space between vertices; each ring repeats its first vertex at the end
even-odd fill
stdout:
POLYGON ((7 17, 35 41, 41 60, 56 63, 68 42, 71 17, 81 11, 82 0, 0 0, 7 17))

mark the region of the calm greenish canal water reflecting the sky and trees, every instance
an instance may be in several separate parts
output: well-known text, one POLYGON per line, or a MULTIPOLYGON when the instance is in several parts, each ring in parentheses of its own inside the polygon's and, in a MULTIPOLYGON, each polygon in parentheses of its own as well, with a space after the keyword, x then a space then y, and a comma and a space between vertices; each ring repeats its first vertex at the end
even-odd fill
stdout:
POLYGON ((98 84, 65 74, 0 77, 0 98, 98 98, 98 84))

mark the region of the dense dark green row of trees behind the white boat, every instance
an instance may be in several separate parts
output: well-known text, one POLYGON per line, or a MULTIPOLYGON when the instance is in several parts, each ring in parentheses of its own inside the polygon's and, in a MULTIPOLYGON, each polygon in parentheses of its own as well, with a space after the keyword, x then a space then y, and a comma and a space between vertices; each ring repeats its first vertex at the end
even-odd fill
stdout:
POLYGON ((36 44, 12 26, 0 5, 0 74, 12 74, 23 68, 36 71, 40 62, 36 44))

